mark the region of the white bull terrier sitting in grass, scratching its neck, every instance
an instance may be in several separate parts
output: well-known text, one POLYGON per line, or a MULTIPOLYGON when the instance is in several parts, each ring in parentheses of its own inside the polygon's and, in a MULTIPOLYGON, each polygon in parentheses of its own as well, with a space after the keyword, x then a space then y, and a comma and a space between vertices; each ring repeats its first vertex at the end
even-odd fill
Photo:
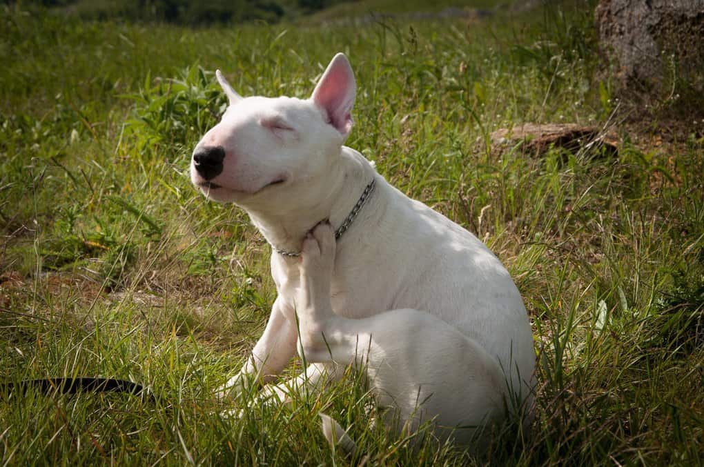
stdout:
MULTIPOLYGON (((472 233, 343 146, 356 96, 347 58, 332 59, 307 100, 242 98, 216 75, 230 106, 196 146, 191 181, 246 210, 272 245, 278 292, 227 387, 268 382, 296 350, 312 364, 294 385, 339 376, 335 363, 363 364, 406 428, 433 419, 440 437, 459 442, 512 401, 529 403, 532 333, 508 271, 472 233)), ((284 398, 284 386, 268 394, 284 398)), ((344 435, 329 418, 324 428, 328 439, 330 428, 344 435)))

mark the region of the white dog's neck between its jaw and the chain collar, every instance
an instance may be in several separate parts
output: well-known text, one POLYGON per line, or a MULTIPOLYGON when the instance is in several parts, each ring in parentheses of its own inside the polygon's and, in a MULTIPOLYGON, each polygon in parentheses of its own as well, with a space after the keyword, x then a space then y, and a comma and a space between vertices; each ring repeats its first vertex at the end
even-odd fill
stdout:
POLYGON ((375 170, 369 162, 344 147, 340 163, 326 174, 326 183, 314 198, 301 200, 300 205, 286 212, 256 206, 244 209, 274 250, 297 253, 306 233, 319 222, 328 219, 334 229, 339 229, 374 177, 375 170))

